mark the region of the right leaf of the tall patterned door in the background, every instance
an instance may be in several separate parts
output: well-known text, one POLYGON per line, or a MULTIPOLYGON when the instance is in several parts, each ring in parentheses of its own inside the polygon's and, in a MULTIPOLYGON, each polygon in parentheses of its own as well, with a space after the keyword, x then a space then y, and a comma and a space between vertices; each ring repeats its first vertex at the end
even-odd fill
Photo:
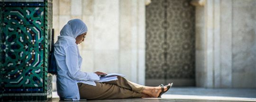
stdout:
POLYGON ((168 0, 167 59, 172 73, 167 78, 195 77, 195 8, 190 0, 168 0))

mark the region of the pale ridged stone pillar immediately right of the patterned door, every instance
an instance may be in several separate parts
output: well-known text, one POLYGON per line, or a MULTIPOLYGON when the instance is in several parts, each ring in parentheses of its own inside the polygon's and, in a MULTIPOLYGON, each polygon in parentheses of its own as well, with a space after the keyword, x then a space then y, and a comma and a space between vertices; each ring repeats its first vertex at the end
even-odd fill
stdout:
POLYGON ((232 87, 231 2, 232 0, 192 1, 196 6, 197 86, 232 87))

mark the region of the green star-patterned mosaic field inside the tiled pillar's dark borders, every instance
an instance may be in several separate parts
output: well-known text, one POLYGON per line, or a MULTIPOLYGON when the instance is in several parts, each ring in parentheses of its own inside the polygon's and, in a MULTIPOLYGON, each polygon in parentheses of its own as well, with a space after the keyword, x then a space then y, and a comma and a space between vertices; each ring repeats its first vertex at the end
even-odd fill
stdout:
POLYGON ((46 40, 44 29, 42 29, 44 26, 41 23, 43 10, 44 8, 4 9, 3 36, 5 39, 2 39, 4 70, 1 74, 4 76, 2 82, 5 83, 5 87, 43 86, 46 40), (39 12, 37 17, 33 17, 35 12, 39 12), (39 81, 33 83, 31 82, 33 79, 39 81))

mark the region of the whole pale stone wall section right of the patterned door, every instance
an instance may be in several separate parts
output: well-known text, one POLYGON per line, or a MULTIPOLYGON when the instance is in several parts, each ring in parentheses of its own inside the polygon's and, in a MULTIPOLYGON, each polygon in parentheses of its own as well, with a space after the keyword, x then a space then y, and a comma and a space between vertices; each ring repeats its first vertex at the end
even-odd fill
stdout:
POLYGON ((192 4, 197 6, 197 86, 256 87, 256 0, 192 4))

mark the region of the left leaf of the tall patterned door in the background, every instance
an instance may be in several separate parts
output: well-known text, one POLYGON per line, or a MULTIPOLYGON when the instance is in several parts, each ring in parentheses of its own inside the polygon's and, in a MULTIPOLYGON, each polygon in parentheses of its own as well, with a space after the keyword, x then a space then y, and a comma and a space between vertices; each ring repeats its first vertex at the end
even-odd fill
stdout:
POLYGON ((146 78, 164 78, 164 0, 152 0, 146 6, 146 78))

